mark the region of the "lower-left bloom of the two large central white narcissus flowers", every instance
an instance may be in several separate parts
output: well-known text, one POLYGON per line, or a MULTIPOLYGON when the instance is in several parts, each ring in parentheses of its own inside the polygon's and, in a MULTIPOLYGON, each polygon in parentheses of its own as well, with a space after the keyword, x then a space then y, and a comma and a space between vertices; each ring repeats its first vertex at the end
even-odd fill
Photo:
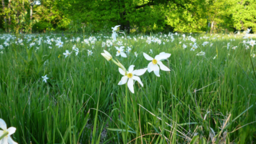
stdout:
POLYGON ((139 84, 143 87, 143 84, 138 76, 143 75, 145 71, 147 71, 147 68, 134 70, 134 67, 135 65, 130 65, 127 75, 126 75, 126 72, 124 72, 124 70, 122 70, 121 68, 118 69, 120 74, 124 75, 120 80, 120 82, 118 83, 118 85, 126 84, 126 82, 128 81, 127 86, 130 92, 132 92, 133 94, 134 94, 134 80, 137 80, 137 82, 139 82, 139 84))

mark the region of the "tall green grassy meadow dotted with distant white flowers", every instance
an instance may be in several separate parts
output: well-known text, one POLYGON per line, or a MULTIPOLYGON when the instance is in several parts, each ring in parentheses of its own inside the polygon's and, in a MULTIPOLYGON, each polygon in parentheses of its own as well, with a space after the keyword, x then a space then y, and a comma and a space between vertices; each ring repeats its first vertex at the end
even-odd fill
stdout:
POLYGON ((113 41, 111 34, 100 33, 0 34, 0 118, 17 128, 15 142, 27 144, 255 143, 256 46, 247 43, 251 39, 169 33, 119 34, 113 41), (116 56, 121 46, 131 48, 126 58, 116 56), (71 54, 64 55, 66 50, 71 54), (126 69, 146 68, 150 61, 143 52, 151 57, 169 53, 162 63, 170 71, 160 70, 160 77, 145 72, 143 87, 135 81, 132 94, 118 85, 122 75, 102 57, 103 50, 126 69))

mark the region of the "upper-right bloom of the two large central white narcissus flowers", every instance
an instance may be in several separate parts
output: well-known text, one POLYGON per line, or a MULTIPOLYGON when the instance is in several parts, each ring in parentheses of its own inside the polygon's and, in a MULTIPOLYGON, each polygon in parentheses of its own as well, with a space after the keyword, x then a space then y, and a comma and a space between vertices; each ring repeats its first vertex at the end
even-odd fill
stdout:
POLYGON ((157 75, 157 77, 160 77, 159 67, 161 70, 170 71, 170 69, 168 67, 166 67, 160 60, 167 59, 168 57, 170 57, 171 54, 161 52, 159 55, 155 55, 155 59, 153 59, 149 55, 145 54, 144 52, 143 52, 143 55, 144 55, 145 59, 151 60, 151 62, 149 62, 149 65, 147 65, 148 72, 154 71, 155 75, 157 75))

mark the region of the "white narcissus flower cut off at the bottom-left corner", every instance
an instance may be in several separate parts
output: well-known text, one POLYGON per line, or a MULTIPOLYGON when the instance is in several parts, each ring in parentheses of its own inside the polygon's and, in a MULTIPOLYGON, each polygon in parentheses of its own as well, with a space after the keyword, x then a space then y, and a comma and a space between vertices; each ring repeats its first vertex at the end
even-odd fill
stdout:
POLYGON ((9 127, 8 129, 7 129, 7 125, 6 125, 6 122, 4 122, 4 120, 2 120, 1 118, 0 118, 0 128, 2 128, 2 130, 0 130, 0 137, 2 136, 2 135, 4 135, 4 133, 8 133, 5 137, 3 137, 1 140, 0 140, 0 143, 1 144, 8 144, 8 143, 10 143, 10 144, 17 144, 16 142, 14 142, 14 140, 12 140, 12 138, 11 138, 11 135, 13 134, 13 133, 15 133, 15 131, 16 131, 16 128, 14 128, 14 127, 9 127))

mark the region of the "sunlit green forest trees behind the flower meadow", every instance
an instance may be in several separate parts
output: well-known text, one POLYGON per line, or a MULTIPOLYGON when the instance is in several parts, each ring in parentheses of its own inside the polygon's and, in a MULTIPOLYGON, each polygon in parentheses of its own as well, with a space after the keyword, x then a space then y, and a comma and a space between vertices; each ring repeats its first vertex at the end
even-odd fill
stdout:
POLYGON ((255 0, 1 0, 0 32, 256 32, 255 0))

